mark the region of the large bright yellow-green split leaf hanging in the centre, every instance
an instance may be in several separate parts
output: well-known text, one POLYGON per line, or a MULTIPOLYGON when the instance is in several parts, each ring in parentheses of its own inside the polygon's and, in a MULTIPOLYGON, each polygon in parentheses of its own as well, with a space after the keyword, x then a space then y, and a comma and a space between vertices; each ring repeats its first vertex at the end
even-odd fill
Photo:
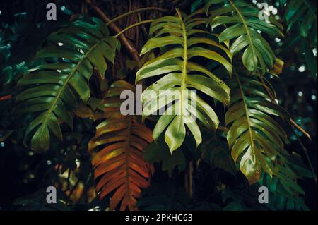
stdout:
POLYGON ((230 99, 228 86, 211 71, 192 61, 194 57, 211 59, 224 66, 229 73, 232 71, 228 61, 232 59, 232 54, 228 49, 213 41, 204 30, 196 28, 204 23, 204 18, 182 16, 177 10, 177 16, 165 16, 151 24, 150 35, 153 37, 148 39, 141 51, 141 54, 146 54, 153 49, 161 49, 160 56, 146 62, 137 72, 136 82, 163 75, 143 92, 141 99, 144 115, 154 114, 167 106, 167 111, 160 116, 153 130, 153 138, 157 140, 167 128, 165 142, 170 152, 182 145, 186 135, 185 126, 194 135, 196 145, 201 143, 201 133, 195 118, 199 118, 208 128, 218 127, 218 117, 211 106, 190 90, 200 90, 223 104, 228 104, 230 99), (221 54, 210 47, 220 50, 221 54), (174 111, 170 113, 170 109, 174 111))

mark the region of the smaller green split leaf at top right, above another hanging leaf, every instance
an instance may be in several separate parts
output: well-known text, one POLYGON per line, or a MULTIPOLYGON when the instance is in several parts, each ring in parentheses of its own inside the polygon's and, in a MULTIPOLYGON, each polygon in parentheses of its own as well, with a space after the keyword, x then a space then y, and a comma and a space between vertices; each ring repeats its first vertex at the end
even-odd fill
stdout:
POLYGON ((228 0, 224 6, 211 11, 208 24, 212 30, 226 25, 218 38, 220 42, 233 40, 230 47, 233 55, 244 49, 242 60, 248 71, 255 72, 260 66, 265 73, 273 67, 276 56, 261 32, 271 37, 283 36, 283 28, 275 19, 269 16, 267 21, 260 20, 259 9, 252 4, 228 0))

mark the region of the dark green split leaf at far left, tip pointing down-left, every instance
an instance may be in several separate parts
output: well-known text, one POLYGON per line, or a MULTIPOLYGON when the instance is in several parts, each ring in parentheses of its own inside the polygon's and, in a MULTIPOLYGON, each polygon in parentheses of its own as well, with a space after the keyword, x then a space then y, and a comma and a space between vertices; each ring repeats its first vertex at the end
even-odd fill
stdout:
POLYGON ((117 39, 97 18, 80 18, 50 35, 47 43, 35 56, 42 64, 18 80, 21 92, 16 97, 16 110, 35 116, 25 131, 25 144, 31 138, 31 148, 37 152, 49 148, 50 134, 62 139, 59 121, 73 126, 69 112, 78 107, 78 99, 86 102, 90 97, 93 68, 104 75, 105 59, 114 62, 118 47, 117 39))

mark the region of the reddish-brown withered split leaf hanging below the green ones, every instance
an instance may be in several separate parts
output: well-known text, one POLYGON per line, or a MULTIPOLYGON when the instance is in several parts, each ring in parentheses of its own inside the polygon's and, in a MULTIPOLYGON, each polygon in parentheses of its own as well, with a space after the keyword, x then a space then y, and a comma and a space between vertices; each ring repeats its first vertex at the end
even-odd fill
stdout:
POLYGON ((110 200, 110 210, 136 209, 136 198, 141 188, 149 186, 153 166, 143 159, 143 148, 153 141, 151 130, 137 123, 134 116, 123 116, 119 95, 124 90, 135 91, 126 81, 112 83, 107 97, 103 100, 105 113, 97 126, 95 137, 88 143, 88 150, 99 146, 102 149, 93 157, 95 178, 101 176, 96 186, 100 198, 114 191, 110 200))

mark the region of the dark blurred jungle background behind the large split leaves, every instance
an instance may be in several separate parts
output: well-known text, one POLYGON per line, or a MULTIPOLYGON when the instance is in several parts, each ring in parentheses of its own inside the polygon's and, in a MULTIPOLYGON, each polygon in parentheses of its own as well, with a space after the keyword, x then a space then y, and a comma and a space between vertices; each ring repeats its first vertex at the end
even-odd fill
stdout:
MULTIPOLYGON (((136 8, 158 7, 167 11, 180 8, 190 13, 193 8, 200 7, 200 1, 178 0, 100 0, 98 6, 109 18, 115 18, 122 13, 136 8), (196 6, 196 4, 198 6, 196 6)), ((285 25, 285 4, 288 1, 251 1, 252 4, 266 2, 277 9, 276 18, 285 25)), ((317 1, 311 1, 317 7, 317 1)), ((161 11, 146 11, 139 15, 131 15, 117 21, 119 28, 139 21, 162 16, 161 11)), ((35 52, 41 49, 45 37, 61 28, 67 21, 78 14, 89 14, 99 17, 85 1, 79 0, 3 0, 0 2, 0 210, 29 210, 29 209, 58 209, 58 210, 105 210, 108 200, 100 200, 95 194, 90 154, 87 151, 88 141, 95 134, 95 122, 88 118, 74 118, 73 133, 64 133, 64 142, 54 142, 45 154, 38 154, 23 145, 23 130, 19 127, 28 118, 17 118, 12 114, 14 86, 27 62, 35 52), (57 20, 46 20, 47 3, 57 4, 57 20), (45 204, 45 188, 57 186, 59 204, 45 204)), ((317 13, 316 13, 317 20, 317 13)), ((317 23, 316 23, 317 25, 317 23)), ((138 51, 146 40, 146 26, 141 25, 125 33, 138 51)), ((316 29, 317 27, 312 28, 316 29)), ((288 110, 291 118, 301 128, 310 134, 306 137, 300 130, 286 127, 288 145, 286 149, 300 155, 302 164, 309 173, 312 163, 317 174, 317 45, 305 42, 300 44, 300 31, 297 27, 290 30, 283 40, 275 39, 270 42, 278 58, 283 59, 283 73, 280 79, 271 78, 271 84, 277 92, 279 104, 288 110), (314 66, 312 66, 314 65, 314 66), (297 134, 297 135, 295 135, 297 134), (298 139, 299 137, 299 139, 298 139), (308 157, 304 151, 307 151, 308 157)), ((125 49, 117 54, 115 66, 110 65, 107 71, 107 81, 128 78, 136 73, 134 61, 125 49)), ((96 82, 93 80, 91 82, 96 82)), ((107 86, 108 84, 103 84, 107 86)), ((95 85, 98 87, 98 85, 95 85)), ((98 88, 93 92, 99 92, 98 88)), ((189 143, 192 145, 192 143, 189 143)), ((207 143, 212 146, 213 144, 207 143)), ((222 148, 213 146, 214 148, 222 148)), ((159 147, 160 148, 160 147, 159 147)), ((160 148, 162 149, 162 147, 160 148)), ((230 162, 224 164, 211 157, 211 162, 196 169, 192 174, 193 188, 189 190, 184 180, 189 178, 189 158, 197 157, 200 150, 184 150, 182 153, 160 155, 159 159, 148 158, 159 164, 163 160, 162 170, 155 170, 151 179, 151 187, 143 190, 143 197, 177 202, 170 207, 158 203, 158 209, 189 209, 189 210, 266 210, 285 209, 285 200, 279 200, 270 207, 264 207, 257 202, 259 184, 249 186, 240 172, 233 172, 230 162), (192 155, 192 156, 191 156, 192 155), (214 160, 214 161, 213 161, 214 160), (175 168, 177 167, 177 169, 175 168), (234 174, 234 175, 233 175, 234 174), (161 204, 161 206, 160 206, 161 204)), ((158 165, 156 166, 158 167, 158 165)), ((317 209, 317 184, 308 175, 299 180, 305 191, 306 209, 317 209)), ((279 194, 276 194, 279 195, 279 194)), ((141 200, 143 199, 141 197, 141 200)), ((145 200, 145 199, 144 199, 145 200)), ((147 208, 147 200, 141 203, 140 209, 147 208), (143 208, 144 207, 144 208, 143 208)))

